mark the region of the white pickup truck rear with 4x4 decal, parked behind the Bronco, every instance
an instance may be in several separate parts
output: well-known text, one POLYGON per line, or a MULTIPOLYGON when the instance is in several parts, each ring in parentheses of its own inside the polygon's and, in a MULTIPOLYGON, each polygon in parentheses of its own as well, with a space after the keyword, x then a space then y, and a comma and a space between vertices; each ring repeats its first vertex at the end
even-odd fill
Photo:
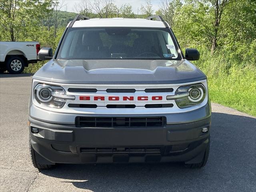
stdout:
POLYGON ((39 42, 0 42, 0 72, 19 74, 29 63, 37 62, 39 42))

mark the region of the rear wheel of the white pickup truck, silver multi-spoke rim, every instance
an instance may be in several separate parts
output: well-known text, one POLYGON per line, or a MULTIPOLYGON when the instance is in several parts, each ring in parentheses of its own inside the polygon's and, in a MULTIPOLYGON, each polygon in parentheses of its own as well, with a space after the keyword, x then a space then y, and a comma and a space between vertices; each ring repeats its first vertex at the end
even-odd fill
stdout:
POLYGON ((25 68, 25 61, 19 56, 13 56, 6 60, 6 68, 10 74, 20 74, 25 68))

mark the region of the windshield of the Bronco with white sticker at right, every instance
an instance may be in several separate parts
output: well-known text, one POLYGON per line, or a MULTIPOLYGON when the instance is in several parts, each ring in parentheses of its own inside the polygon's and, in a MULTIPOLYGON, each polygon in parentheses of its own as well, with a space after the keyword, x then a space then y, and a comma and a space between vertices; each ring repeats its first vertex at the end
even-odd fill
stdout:
POLYGON ((180 58, 168 28, 69 28, 57 59, 180 58))

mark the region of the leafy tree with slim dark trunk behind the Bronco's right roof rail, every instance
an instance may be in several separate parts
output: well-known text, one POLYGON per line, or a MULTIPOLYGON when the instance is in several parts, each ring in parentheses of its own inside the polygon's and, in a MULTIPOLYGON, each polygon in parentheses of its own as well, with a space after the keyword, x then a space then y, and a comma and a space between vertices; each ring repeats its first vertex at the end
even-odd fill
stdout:
POLYGON ((190 36, 200 36, 199 39, 200 41, 203 40, 204 45, 208 46, 209 42, 207 43, 206 40, 209 40, 213 54, 220 39, 222 16, 230 4, 230 0, 187 0, 181 8, 173 2, 171 4, 165 3, 160 11, 170 17, 172 26, 175 27, 174 20, 176 20, 178 26, 189 31, 190 36), (191 30, 188 29, 190 26, 192 27, 191 30))

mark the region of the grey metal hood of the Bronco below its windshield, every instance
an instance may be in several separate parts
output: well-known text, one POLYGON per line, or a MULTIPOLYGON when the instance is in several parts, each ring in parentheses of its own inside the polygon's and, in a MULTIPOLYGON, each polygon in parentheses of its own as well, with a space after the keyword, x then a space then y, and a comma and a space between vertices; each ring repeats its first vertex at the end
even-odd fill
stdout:
POLYGON ((33 78, 67 84, 177 84, 206 76, 187 60, 50 60, 33 78))

